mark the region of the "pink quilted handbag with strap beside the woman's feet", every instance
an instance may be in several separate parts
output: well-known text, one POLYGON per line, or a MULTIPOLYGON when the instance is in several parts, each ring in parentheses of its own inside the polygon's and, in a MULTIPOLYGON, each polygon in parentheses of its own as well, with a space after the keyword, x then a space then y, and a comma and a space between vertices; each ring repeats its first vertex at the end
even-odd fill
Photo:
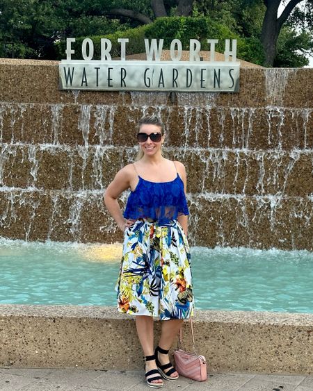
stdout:
MULTIPOLYGON (((191 324, 191 334, 193 336, 193 324, 191 324)), ((182 342, 182 328, 180 329, 179 342, 182 342)), ((193 338, 195 348, 195 339, 193 338)), ((207 362, 204 356, 197 353, 189 353, 182 349, 177 349, 173 353, 175 368, 184 377, 192 378, 196 381, 207 380, 207 362)))

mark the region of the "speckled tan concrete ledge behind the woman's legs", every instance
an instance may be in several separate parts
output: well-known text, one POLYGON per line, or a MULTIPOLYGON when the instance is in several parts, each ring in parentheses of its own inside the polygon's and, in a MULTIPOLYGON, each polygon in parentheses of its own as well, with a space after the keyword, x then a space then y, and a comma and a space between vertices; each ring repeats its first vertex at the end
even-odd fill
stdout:
MULTIPOLYGON (((209 372, 313 373, 313 314, 197 311, 194 328, 209 372)), ((0 366, 142 367, 134 317, 111 307, 0 305, 0 339, 0 366)))

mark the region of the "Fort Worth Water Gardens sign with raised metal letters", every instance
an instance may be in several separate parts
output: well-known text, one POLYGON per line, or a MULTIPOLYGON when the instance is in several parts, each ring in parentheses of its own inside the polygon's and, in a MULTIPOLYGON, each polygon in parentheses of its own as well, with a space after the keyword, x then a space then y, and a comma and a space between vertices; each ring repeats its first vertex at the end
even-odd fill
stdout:
POLYGON ((100 91, 177 91, 177 92, 239 92, 239 62, 236 61, 236 40, 225 40, 225 61, 215 61, 215 44, 210 58, 200 58, 201 44, 190 40, 189 61, 182 61, 182 43, 172 40, 171 61, 162 61, 163 40, 145 40, 147 60, 126 60, 127 38, 121 44, 120 60, 111 58, 111 42, 101 42, 101 59, 93 60, 93 41, 83 40, 83 60, 72 60, 71 44, 67 38, 67 59, 59 64, 61 90, 100 91), (232 60, 230 60, 232 56, 232 60))

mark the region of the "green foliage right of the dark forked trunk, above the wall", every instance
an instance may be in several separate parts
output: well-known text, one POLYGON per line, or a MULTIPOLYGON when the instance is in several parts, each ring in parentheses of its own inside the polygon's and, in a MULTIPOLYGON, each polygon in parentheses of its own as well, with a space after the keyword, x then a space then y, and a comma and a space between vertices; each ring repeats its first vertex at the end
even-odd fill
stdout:
POLYGON ((313 54, 313 36, 307 31, 297 33, 286 26, 278 38, 274 67, 304 67, 309 65, 307 55, 313 54))

